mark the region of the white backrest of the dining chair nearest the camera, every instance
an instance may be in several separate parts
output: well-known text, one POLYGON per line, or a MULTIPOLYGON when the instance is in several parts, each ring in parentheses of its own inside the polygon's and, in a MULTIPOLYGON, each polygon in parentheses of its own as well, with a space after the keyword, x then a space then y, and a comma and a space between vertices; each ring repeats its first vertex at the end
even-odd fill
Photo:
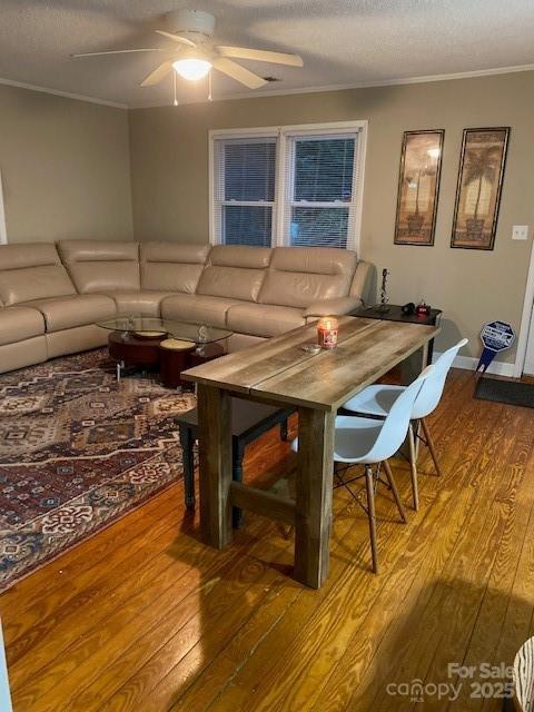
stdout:
POLYGON ((419 376, 398 396, 387 414, 375 444, 365 456, 367 463, 380 463, 392 457, 404 443, 412 419, 415 399, 426 380, 432 377, 434 366, 427 366, 419 376))

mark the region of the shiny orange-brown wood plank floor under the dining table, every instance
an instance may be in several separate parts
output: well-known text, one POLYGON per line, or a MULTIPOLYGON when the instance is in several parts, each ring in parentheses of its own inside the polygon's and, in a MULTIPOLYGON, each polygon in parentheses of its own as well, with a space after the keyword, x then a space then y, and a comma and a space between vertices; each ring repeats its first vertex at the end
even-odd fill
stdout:
MULTIPOLYGON (((378 576, 342 490, 330 575, 312 591, 289 577, 291 540, 258 516, 224 552, 202 546, 179 485, 8 591, 14 711, 501 710, 469 679, 456 702, 431 684, 458 682, 448 663, 510 664, 534 635, 534 411, 475 400, 473 385, 454 372, 431 419, 444 476, 425 455, 419 512, 403 525, 377 497, 378 576)), ((273 432, 248 481, 290 463, 273 432)), ((406 465, 394 472, 409 502, 406 465)))

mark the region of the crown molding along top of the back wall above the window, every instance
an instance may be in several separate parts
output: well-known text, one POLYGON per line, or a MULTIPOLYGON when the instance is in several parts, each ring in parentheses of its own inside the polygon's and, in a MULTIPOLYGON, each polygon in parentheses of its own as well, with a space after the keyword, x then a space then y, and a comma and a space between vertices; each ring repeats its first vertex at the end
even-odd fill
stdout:
MULTIPOLYGON (((347 89, 372 89, 373 87, 396 87, 402 85, 422 85, 433 81, 451 81, 454 79, 476 79, 477 77, 493 77, 496 75, 514 75, 523 71, 534 71, 534 65, 517 65, 513 67, 495 67, 492 69, 476 69, 473 71, 462 71, 449 75, 425 75, 419 77, 405 77, 402 79, 383 79, 379 81, 359 81, 339 85, 319 85, 314 87, 301 87, 300 89, 275 89, 246 92, 239 91, 225 97, 214 97, 214 101, 231 101, 235 99, 260 99, 265 97, 280 97, 298 93, 320 93, 324 91, 344 91, 347 89)), ((190 103, 207 103, 206 99, 182 100, 179 106, 190 103)), ((147 106, 130 107, 130 109, 154 109, 157 107, 170 106, 170 101, 157 102, 147 106)))

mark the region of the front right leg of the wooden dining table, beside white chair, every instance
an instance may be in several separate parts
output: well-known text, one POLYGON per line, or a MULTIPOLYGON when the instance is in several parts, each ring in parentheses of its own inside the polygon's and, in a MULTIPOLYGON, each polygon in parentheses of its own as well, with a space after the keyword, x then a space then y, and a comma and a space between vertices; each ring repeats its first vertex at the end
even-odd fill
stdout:
POLYGON ((335 413, 298 409, 295 578, 319 589, 328 575, 335 413))

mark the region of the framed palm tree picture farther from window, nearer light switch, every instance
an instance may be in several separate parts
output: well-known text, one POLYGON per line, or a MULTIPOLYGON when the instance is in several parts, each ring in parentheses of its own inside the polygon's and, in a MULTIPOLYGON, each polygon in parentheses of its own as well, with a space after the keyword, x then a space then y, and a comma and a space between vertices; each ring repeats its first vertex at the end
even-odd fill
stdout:
POLYGON ((494 248, 508 140, 508 126, 464 129, 451 247, 494 248))

